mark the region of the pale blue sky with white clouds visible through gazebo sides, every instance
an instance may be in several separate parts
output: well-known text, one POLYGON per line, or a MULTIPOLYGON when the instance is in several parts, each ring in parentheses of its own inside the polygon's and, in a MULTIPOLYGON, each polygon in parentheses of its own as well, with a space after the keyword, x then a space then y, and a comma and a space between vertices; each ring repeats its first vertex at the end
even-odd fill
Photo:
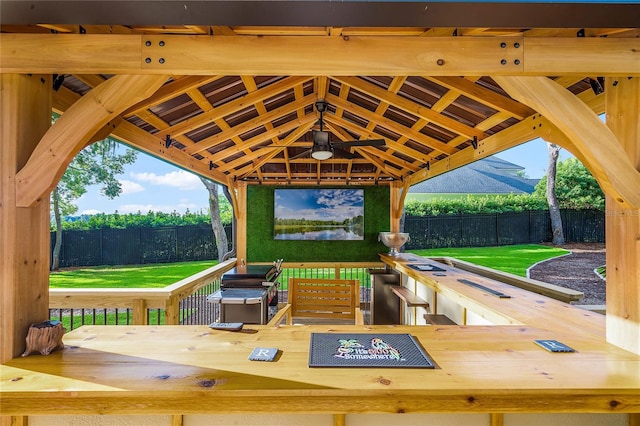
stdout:
MULTIPOLYGON (((497 155, 503 160, 525 167, 530 178, 540 178, 547 167, 547 145, 536 139, 497 155)), ((571 157, 566 150, 560 159, 571 157)), ((208 211, 207 190, 193 173, 186 172, 144 153, 126 166, 119 177, 122 194, 109 200, 100 194, 99 187, 89 187, 87 194, 77 200, 77 214, 93 213, 146 213, 148 211, 191 212, 208 211)))

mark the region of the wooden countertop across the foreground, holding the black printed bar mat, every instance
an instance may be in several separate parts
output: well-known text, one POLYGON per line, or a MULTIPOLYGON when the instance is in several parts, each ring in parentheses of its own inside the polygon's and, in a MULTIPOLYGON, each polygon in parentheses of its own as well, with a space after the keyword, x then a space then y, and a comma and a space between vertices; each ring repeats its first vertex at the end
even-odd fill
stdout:
POLYGON ((83 326, 0 371, 2 414, 640 412, 640 356, 529 326, 83 326), (410 333, 436 367, 309 368, 312 332, 410 333), (557 339, 575 353, 533 341, 557 339), (276 362, 249 361, 277 347, 276 362))

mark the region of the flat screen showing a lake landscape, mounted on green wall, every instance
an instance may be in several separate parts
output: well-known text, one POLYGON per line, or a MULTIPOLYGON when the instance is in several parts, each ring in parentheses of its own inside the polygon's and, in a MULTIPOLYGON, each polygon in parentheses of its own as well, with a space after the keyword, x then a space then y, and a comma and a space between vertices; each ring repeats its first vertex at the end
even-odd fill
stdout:
POLYGON ((276 189, 276 240, 364 240, 363 189, 276 189))

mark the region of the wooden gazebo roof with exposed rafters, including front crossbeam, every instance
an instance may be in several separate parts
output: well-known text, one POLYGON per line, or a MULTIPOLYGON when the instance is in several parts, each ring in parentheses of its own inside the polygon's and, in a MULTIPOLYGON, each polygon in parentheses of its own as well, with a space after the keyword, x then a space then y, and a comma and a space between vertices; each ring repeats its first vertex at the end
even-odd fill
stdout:
MULTIPOLYGON (((638 28, 628 25, 637 8, 628 7, 608 9, 608 17, 589 15, 587 21, 602 25, 598 28, 512 27, 506 22, 526 19, 520 15, 502 18, 495 8, 491 14, 478 12, 481 16, 475 19, 499 26, 434 27, 409 25, 416 18, 402 9, 407 4, 393 9, 389 2, 380 3, 379 8, 386 5, 388 9, 378 13, 402 10, 404 20, 396 16, 399 13, 387 18, 404 25, 364 26, 382 19, 376 14, 368 19, 352 16, 350 22, 356 26, 336 27, 310 25, 322 20, 317 11, 289 17, 291 25, 299 22, 303 26, 281 25, 286 18, 277 11, 244 18, 264 25, 202 25, 198 23, 207 19, 193 12, 190 25, 176 25, 186 18, 172 20, 170 10, 156 10, 149 17, 141 9, 144 3, 174 2, 127 2, 131 10, 119 20, 107 11, 113 2, 85 2, 105 8, 104 16, 89 20, 81 8, 60 6, 66 15, 59 9, 46 9, 47 3, 64 2, 31 2, 36 5, 31 14, 19 3, 3 2, 10 16, 3 18, 1 31, 20 35, 18 45, 39 60, 32 68, 55 74, 54 110, 64 112, 116 74, 166 73, 170 77, 164 85, 124 111, 121 121, 112 120, 109 132, 223 184, 417 183, 541 136, 537 124, 528 122, 539 117, 536 111, 511 98, 495 75, 547 73, 593 111, 602 113, 602 74, 596 70, 602 71, 607 54, 600 56, 599 45, 589 43, 580 52, 586 55, 580 60, 586 66, 575 72, 569 71, 573 63, 564 62, 572 60, 567 52, 583 39, 600 42, 640 36, 638 28), (49 23, 39 21, 44 18, 38 12, 46 14, 49 23), (131 24, 135 21, 155 25, 131 24), (130 47, 135 48, 132 58, 130 47), (34 55, 33 49, 51 53, 34 55), (235 56, 233 51, 237 51, 235 56), (528 68, 529 64, 533 67, 528 68), (594 73, 589 73, 590 68, 594 73), (346 153, 336 150, 331 159, 311 158, 312 131, 319 128, 317 101, 327 103, 324 129, 330 132, 331 141, 384 139, 384 146, 346 145, 346 153)), ((201 7, 196 3, 185 2, 184 7, 201 7)), ((241 2, 203 3, 222 7, 220 3, 241 2)), ((286 5, 302 8, 304 3, 311 11, 326 7, 325 2, 267 3, 280 11, 286 5)), ((356 3, 334 7, 355 8, 356 3)), ((448 7, 454 11, 460 5, 450 3, 448 7)), ((473 21, 473 10, 465 10, 457 20, 473 21)), ((558 21, 540 5, 528 12, 528 19, 539 25, 558 21)), ((341 17, 334 21, 349 21, 335 9, 325 14, 341 17)), ((570 25, 573 18, 567 16, 568 12, 565 22, 570 25)), ((220 19, 223 23, 241 20, 231 12, 220 19)), ((12 54, 15 71, 33 72, 20 58, 15 59, 19 53, 12 54)), ((11 72, 8 55, 3 56, 3 68, 11 72)), ((608 67, 615 73, 614 65, 608 67)))

